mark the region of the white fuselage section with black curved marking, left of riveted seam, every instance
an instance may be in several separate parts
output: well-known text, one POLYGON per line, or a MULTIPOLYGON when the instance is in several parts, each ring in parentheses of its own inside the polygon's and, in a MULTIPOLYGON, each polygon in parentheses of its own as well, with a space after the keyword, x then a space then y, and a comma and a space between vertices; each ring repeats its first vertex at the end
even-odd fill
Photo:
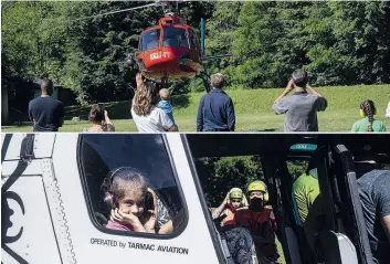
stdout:
POLYGON ((59 213, 60 193, 51 162, 55 134, 2 135, 1 261, 4 264, 48 263, 48 260, 72 263, 66 253, 60 253, 61 249, 66 252, 67 244, 55 236, 62 232, 65 237, 66 232, 61 230, 65 220, 59 213))

